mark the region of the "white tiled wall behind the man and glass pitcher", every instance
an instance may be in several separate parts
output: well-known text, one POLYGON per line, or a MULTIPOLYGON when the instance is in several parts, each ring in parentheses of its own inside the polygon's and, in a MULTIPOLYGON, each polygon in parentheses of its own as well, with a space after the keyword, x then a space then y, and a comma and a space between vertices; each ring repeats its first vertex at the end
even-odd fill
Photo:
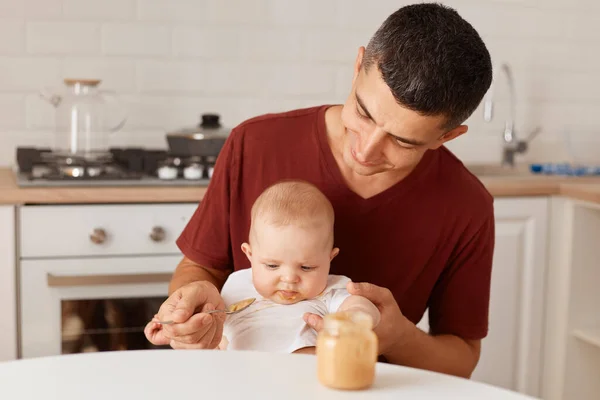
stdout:
MULTIPOLYGON (((103 80, 129 119, 115 145, 166 146, 164 133, 217 112, 229 127, 254 115, 343 102, 357 48, 410 1, 0 0, 0 165, 17 145, 51 142, 53 109, 37 95, 62 78, 103 80)), ((542 134, 526 158, 564 151, 564 133, 596 139, 600 42, 595 0, 454 0, 494 64, 513 67, 517 134, 542 134)), ((499 69, 497 69, 499 70, 499 69)), ((482 112, 450 146, 467 161, 498 161, 497 119, 482 112)))

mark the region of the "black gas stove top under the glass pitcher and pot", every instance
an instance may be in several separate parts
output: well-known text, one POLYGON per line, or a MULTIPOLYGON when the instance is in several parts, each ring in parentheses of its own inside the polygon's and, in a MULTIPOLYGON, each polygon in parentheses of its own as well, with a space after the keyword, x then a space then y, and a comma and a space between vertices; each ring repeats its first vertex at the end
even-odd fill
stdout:
POLYGON ((216 157, 182 157, 137 147, 111 148, 85 158, 19 147, 16 156, 20 187, 206 186, 216 161, 216 157))

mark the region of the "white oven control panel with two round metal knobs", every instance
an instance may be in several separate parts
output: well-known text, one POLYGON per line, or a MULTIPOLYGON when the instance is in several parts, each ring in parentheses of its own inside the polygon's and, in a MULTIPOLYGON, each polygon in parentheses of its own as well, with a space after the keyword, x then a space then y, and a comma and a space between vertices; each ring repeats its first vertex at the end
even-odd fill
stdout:
POLYGON ((23 206, 21 258, 176 254, 197 204, 23 206))

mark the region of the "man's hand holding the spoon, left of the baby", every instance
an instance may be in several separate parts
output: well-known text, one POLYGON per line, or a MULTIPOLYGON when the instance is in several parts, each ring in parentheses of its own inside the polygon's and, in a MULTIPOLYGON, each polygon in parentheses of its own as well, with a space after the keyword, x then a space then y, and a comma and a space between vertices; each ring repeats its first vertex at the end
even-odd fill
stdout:
POLYGON ((144 333, 155 345, 168 344, 174 349, 214 349, 223 335, 225 314, 204 312, 223 308, 223 298, 213 284, 192 282, 165 300, 144 333), (167 320, 172 320, 173 324, 156 322, 167 320))

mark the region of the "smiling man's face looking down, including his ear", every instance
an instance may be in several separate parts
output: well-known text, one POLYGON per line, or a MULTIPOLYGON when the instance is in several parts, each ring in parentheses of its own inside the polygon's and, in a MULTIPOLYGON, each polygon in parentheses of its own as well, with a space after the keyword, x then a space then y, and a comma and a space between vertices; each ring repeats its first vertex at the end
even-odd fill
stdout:
POLYGON ((352 90, 342 109, 345 133, 342 155, 358 175, 407 171, 416 166, 427 150, 467 131, 461 125, 443 129, 445 117, 424 116, 402 107, 373 64, 361 68, 364 49, 356 60, 352 90))

